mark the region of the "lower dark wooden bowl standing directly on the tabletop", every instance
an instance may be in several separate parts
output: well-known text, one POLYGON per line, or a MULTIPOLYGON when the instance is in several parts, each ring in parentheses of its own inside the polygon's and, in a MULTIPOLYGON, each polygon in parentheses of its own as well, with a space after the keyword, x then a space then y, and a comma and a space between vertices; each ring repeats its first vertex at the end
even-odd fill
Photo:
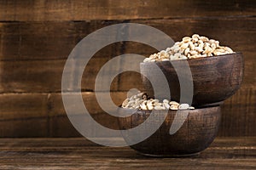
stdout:
MULTIPOLYGON (((161 111, 157 112, 161 113, 161 111)), ((176 112, 168 111, 166 120, 160 128, 143 142, 131 145, 131 148, 146 156, 194 156, 205 150, 218 133, 221 117, 220 107, 212 106, 190 110, 183 126, 177 133, 171 135, 169 130, 176 112)), ((122 130, 137 127, 149 115, 150 111, 138 110, 129 117, 119 117, 119 127, 122 130)), ((143 134, 146 131, 147 128, 144 128, 137 133, 143 134)), ((124 138, 125 141, 132 141, 134 140, 132 138, 135 137, 124 135, 124 138)))

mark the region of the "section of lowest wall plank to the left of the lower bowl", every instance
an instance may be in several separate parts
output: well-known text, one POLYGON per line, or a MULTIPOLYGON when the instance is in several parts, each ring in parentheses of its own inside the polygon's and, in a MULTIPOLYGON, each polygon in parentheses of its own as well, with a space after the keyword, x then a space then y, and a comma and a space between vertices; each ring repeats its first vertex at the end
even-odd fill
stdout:
MULTIPOLYGON (((117 117, 102 111, 94 93, 87 92, 82 96, 84 105, 96 122, 119 129, 117 117)), ((126 93, 112 93, 111 97, 116 105, 120 105, 126 93)), ((1 137, 80 136, 67 117, 61 94, 0 94, 0 105, 1 137)))

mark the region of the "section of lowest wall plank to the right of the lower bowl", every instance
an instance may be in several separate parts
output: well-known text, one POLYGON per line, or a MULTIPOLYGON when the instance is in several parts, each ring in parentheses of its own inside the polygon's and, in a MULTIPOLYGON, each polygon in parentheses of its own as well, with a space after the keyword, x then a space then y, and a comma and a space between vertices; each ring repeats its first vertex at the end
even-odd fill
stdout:
POLYGON ((218 135, 255 136, 256 90, 240 89, 222 105, 222 123, 218 135))

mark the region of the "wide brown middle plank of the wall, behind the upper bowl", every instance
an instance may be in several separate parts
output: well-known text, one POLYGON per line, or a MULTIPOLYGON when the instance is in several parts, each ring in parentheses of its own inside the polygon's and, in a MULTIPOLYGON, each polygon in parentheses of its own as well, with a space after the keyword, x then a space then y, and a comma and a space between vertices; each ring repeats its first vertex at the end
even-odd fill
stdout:
MULTIPOLYGON (((180 40, 181 37, 185 35, 191 35, 194 32, 198 32, 202 35, 207 35, 207 37, 218 39, 221 44, 228 45, 235 51, 241 51, 245 59, 245 77, 242 88, 253 88, 256 83, 256 77, 253 76, 253 72, 256 68, 256 59, 254 57, 255 48, 253 45, 256 40, 255 21, 256 20, 253 17, 245 19, 220 18, 212 20, 137 20, 138 23, 154 26, 161 31, 166 32, 166 34, 174 38, 174 40, 180 40), (164 25, 163 22, 165 23, 164 25), (209 28, 209 26, 211 27, 209 28), (245 26, 247 29, 244 29, 245 26)), ((71 25, 73 25, 72 23, 71 25)), ((79 42, 75 39, 79 37, 78 39, 80 40, 83 36, 87 35, 88 32, 81 33, 83 30, 95 31, 96 28, 108 26, 109 23, 92 21, 90 25, 86 25, 81 21, 76 22, 75 26, 71 26, 70 28, 68 28, 68 24, 70 24, 70 22, 6 24, 8 25, 8 29, 3 29, 3 35, 0 43, 0 58, 3 60, 0 62, 1 68, 3 68, 1 69, 2 71, 0 71, 0 77, 3 80, 1 83, 3 87, 1 89, 2 92, 60 91, 61 71, 63 70, 65 59, 67 59, 67 56, 74 47, 74 44, 79 42), (20 27, 20 31, 12 30, 12 25, 18 25, 17 27, 20 27), (48 29, 48 27, 50 27, 50 29, 48 29), (62 29, 62 31, 59 31, 58 28, 62 29), (79 31, 77 31, 76 28, 78 28, 79 31), (30 35, 31 32, 34 33, 30 35), (49 37, 47 35, 49 35, 49 37), (67 35, 70 35, 70 37, 67 37, 67 35), (42 38, 42 36, 44 38, 42 38), (20 37, 21 39, 19 39, 20 37), (21 62, 20 59, 26 60, 21 62), (37 61, 34 61, 34 59, 37 59, 37 61), (45 61, 41 61, 41 59, 45 61), (54 60, 49 61, 51 59, 54 60), (7 62, 7 60, 15 60, 15 62, 7 62), (53 68, 54 66, 55 69, 53 68), (26 69, 30 67, 32 68, 26 69), (32 71, 32 75, 30 75, 30 71, 32 71), (42 77, 42 79, 37 79, 36 77, 42 77), (53 79, 52 77, 55 78, 53 79), (35 82, 35 86, 29 86, 33 83, 32 81, 35 82)), ((101 66, 104 62, 107 62, 108 59, 112 59, 118 54, 134 53, 148 56, 148 54, 154 52, 153 48, 139 45, 136 42, 123 42, 103 48, 102 51, 99 51, 96 54, 95 58, 104 59, 99 61, 95 60, 95 63, 91 61, 91 65, 88 65, 90 77, 86 77, 89 78, 89 80, 84 80, 86 84, 92 86, 86 89, 93 90, 93 79, 96 77, 96 72, 99 71, 101 66)), ((139 76, 134 73, 126 73, 125 76, 120 76, 118 85, 114 87, 113 90, 129 90, 132 86, 137 85, 138 77, 139 76), (129 79, 129 83, 127 83, 127 79, 129 79)), ((82 84, 85 84, 85 82, 82 84)), ((138 84, 138 88, 143 87, 138 84)))

